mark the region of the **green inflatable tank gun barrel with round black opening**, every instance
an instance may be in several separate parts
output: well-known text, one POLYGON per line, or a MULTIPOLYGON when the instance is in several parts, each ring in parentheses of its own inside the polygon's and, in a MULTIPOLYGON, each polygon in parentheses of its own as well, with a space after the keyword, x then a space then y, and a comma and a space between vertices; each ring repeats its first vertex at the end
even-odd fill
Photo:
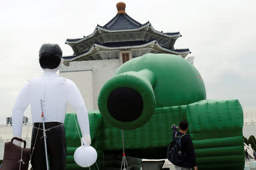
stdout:
POLYGON ((155 83, 156 76, 148 69, 115 75, 98 96, 102 117, 122 130, 141 127, 155 110, 155 83))

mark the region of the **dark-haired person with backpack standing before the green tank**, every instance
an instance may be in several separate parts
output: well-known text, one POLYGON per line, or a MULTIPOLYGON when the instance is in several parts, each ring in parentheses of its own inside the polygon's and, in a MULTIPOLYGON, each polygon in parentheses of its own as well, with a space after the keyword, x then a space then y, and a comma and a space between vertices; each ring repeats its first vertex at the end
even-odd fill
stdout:
POLYGON ((179 123, 180 131, 177 130, 175 125, 172 125, 172 130, 173 141, 168 148, 168 160, 175 165, 176 170, 188 170, 192 168, 197 170, 193 142, 191 137, 186 134, 188 130, 188 122, 181 120, 179 123))

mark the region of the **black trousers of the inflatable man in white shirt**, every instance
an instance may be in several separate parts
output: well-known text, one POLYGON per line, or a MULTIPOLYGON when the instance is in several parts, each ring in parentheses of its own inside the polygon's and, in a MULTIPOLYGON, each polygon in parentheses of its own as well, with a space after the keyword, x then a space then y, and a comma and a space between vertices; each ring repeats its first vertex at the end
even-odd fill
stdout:
MULTIPOLYGON (((49 167, 51 170, 62 170, 66 160, 66 137, 64 124, 60 122, 46 122, 46 142, 49 167), (55 127, 57 126, 57 127, 55 127), (55 127, 55 128, 53 128, 55 127), (49 129, 52 128, 52 129, 49 129), (47 130, 49 129, 49 130, 47 130)), ((43 123, 34 123, 31 139, 31 165, 33 170, 46 170, 46 152, 44 149, 43 123), (40 126, 39 126, 40 124, 40 126), (39 130, 37 128, 40 128, 39 130), (36 133, 38 137, 36 138, 36 133), (36 142, 35 142, 36 140, 36 142), (34 151, 33 147, 35 145, 34 151)))

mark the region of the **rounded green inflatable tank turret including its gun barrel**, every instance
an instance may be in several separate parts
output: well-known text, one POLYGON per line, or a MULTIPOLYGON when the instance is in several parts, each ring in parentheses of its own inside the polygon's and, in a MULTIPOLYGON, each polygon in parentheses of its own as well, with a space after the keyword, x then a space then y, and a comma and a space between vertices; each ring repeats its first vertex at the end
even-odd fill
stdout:
POLYGON ((155 108, 187 105, 206 99, 199 71, 172 54, 145 54, 125 62, 102 87, 98 108, 116 128, 145 124, 155 108))

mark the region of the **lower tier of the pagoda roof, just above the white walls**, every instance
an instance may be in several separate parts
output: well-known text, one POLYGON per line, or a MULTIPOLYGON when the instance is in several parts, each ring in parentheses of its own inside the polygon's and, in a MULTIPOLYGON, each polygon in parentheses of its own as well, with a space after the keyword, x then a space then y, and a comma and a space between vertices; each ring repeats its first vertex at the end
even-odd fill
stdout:
MULTIPOLYGON (((105 44, 93 44, 92 47, 89 50, 86 50, 85 52, 75 56, 63 56, 64 63, 76 61, 77 59, 84 58, 86 56, 89 56, 90 54, 96 53, 99 50, 130 50, 130 49, 139 49, 139 48, 154 48, 161 50, 165 53, 171 53, 180 55, 183 58, 185 58, 188 54, 191 52, 189 49, 168 49, 164 48, 163 46, 160 46, 156 40, 152 40, 150 42, 147 41, 130 41, 130 42, 108 42, 105 44)), ((106 59, 106 58, 102 58, 106 59)))

